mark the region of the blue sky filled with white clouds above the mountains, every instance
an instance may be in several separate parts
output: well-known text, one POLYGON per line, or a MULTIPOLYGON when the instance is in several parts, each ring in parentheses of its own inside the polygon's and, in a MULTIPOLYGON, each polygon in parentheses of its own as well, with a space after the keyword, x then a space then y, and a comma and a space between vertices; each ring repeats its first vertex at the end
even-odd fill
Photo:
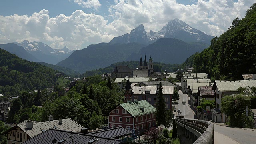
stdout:
POLYGON ((109 42, 140 24, 147 32, 178 18, 220 36, 256 0, 1 0, 0 44, 37 41, 70 50, 109 42))

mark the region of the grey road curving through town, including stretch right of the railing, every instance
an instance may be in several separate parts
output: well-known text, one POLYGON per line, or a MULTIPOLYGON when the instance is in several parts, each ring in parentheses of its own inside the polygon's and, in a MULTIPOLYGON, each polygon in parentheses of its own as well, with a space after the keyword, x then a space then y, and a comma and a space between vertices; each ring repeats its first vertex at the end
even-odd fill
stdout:
MULTIPOLYGON (((173 104, 176 109, 180 109, 183 115, 182 101, 186 101, 185 118, 195 118, 195 112, 188 105, 188 95, 180 94, 180 100, 177 104, 173 104)), ((177 116, 176 112, 176 116, 177 116)), ((233 128, 228 126, 220 126, 214 124, 214 140, 215 144, 256 144, 256 130, 248 128, 233 128)))

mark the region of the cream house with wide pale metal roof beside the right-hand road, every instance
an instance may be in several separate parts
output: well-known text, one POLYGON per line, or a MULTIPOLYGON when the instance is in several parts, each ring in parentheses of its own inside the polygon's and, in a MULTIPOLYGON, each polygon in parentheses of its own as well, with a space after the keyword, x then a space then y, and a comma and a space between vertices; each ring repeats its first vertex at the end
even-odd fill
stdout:
POLYGON ((214 122, 226 122, 227 116, 221 113, 221 99, 224 96, 232 95, 232 94, 239 94, 238 88, 242 87, 249 87, 252 86, 256 87, 256 80, 236 80, 236 81, 220 81, 215 80, 212 86, 212 90, 214 90, 215 94, 215 107, 211 109, 212 111, 212 120, 214 122))

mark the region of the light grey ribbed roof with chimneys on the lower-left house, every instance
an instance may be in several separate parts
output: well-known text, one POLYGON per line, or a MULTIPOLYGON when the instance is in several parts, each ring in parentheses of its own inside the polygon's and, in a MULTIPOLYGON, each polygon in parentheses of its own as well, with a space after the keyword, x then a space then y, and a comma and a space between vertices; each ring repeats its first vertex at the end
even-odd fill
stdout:
POLYGON ((72 132, 80 132, 84 127, 72 120, 71 118, 66 118, 62 120, 62 124, 59 124, 59 120, 52 120, 46 122, 33 122, 33 128, 26 127, 27 120, 17 124, 17 126, 22 129, 28 136, 33 138, 38 134, 42 133, 42 130, 48 130, 50 128, 54 128, 56 126, 57 130, 68 130, 72 132))

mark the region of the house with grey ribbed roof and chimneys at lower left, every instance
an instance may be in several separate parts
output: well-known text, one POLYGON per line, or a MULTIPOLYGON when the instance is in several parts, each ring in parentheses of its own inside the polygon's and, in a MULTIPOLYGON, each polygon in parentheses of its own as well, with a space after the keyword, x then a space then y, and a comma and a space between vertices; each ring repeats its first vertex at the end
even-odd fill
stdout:
POLYGON ((83 126, 71 118, 59 118, 59 120, 53 120, 53 116, 49 116, 49 121, 46 122, 24 120, 3 134, 8 135, 7 144, 21 144, 22 142, 25 142, 30 138, 34 138, 38 134, 41 134, 50 128, 53 128, 54 130, 68 130, 69 132, 80 132, 81 129, 84 129, 83 126))

